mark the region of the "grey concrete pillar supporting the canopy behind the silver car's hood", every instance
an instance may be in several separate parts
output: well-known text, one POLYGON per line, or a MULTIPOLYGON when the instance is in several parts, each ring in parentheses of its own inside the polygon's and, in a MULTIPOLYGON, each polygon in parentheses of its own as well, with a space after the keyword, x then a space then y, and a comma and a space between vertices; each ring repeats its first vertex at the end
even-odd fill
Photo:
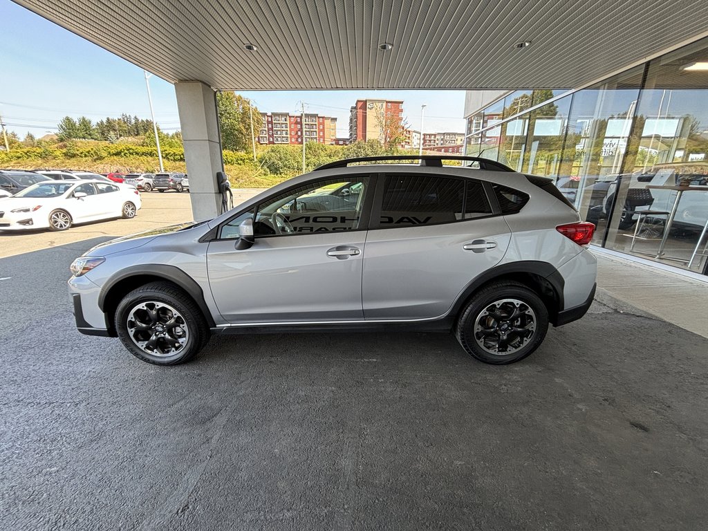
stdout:
POLYGON ((221 209, 216 175, 224 169, 216 93, 201 81, 179 81, 175 93, 192 213, 195 221, 210 219, 221 209))

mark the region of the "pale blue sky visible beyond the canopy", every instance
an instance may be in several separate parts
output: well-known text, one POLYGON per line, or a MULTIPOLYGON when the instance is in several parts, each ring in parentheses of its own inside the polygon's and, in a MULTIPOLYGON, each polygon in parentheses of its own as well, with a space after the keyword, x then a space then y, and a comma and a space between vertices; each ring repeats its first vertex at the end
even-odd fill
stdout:
MULTIPOLYGON (((150 118, 142 69, 9 0, 0 0, 0 115, 20 138, 56 132, 69 115, 93 122, 122 113, 150 118)), ((179 129, 172 84, 149 80, 155 120, 162 130, 179 129)), ((420 130, 464 131, 464 91, 243 91, 262 112, 305 111, 337 118, 337 136, 348 137, 349 108, 357 99, 404 100, 404 118, 420 130)))

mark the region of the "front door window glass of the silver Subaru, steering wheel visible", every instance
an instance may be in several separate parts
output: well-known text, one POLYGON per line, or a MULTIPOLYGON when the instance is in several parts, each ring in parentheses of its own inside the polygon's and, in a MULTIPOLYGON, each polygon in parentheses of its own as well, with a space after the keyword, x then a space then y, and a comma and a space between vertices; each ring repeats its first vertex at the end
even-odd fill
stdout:
POLYGON ((258 205, 256 236, 350 231, 360 228, 368 177, 307 183, 258 205))

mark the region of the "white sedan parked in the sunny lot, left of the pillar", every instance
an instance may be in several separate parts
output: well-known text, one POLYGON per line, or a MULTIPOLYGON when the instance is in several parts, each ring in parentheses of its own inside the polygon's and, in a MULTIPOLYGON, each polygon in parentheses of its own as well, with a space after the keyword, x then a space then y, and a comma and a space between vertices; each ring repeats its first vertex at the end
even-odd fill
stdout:
POLYGON ((135 188, 104 181, 44 181, 0 200, 0 231, 63 231, 75 223, 135 217, 141 206, 135 188))

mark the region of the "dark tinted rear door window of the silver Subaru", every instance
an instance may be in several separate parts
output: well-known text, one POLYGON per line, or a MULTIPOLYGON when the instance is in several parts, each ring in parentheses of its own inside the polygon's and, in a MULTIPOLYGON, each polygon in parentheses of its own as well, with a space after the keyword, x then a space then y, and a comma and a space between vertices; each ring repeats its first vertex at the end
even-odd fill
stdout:
POLYGON ((400 174, 385 178, 382 228, 453 223, 490 214, 477 181, 400 174))

